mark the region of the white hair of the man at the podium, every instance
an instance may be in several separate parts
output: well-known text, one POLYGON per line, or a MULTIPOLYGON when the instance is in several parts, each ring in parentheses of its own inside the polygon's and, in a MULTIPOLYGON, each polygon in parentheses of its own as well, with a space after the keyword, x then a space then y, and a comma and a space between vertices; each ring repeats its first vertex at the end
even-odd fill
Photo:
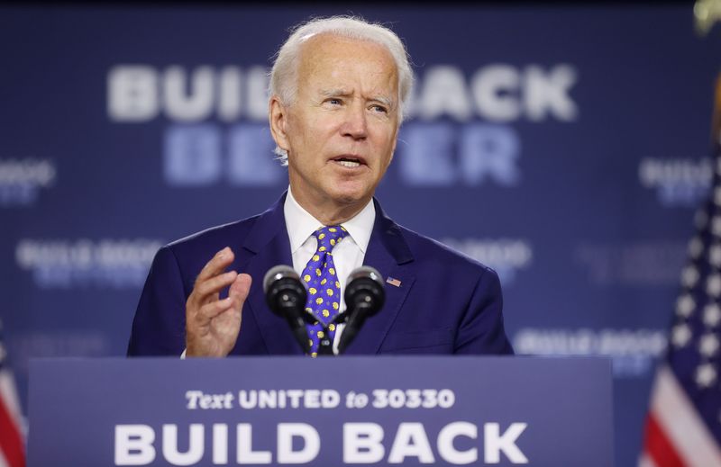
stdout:
MULTIPOLYGON (((413 70, 403 41, 386 26, 367 22, 357 16, 331 16, 315 18, 298 24, 285 43, 278 49, 270 70, 269 96, 278 96, 284 105, 295 102, 298 90, 298 68, 301 46, 315 34, 333 34, 350 39, 368 40, 386 49, 396 62, 398 74, 398 125, 403 121, 405 103, 413 87, 413 70)), ((287 152, 276 147, 278 159, 287 165, 287 152)))

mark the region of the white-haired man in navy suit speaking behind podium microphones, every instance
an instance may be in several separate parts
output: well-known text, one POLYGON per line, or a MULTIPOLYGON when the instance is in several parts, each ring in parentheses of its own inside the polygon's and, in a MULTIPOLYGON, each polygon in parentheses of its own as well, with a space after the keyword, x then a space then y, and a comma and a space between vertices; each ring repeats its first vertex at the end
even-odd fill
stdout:
POLYGON ((128 355, 302 354, 266 305, 261 280, 275 265, 293 265, 305 283, 312 356, 319 339, 337 343, 342 329, 331 322, 360 265, 385 278, 386 300, 347 354, 512 353, 497 274, 398 226, 373 198, 412 83, 405 46, 383 26, 332 17, 298 27, 270 75, 287 192, 260 215, 160 249, 128 355))

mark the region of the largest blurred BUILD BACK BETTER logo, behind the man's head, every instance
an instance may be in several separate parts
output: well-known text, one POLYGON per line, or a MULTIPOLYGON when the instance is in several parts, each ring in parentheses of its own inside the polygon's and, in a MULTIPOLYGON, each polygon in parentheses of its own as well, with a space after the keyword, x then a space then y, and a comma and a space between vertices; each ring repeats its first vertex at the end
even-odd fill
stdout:
MULTIPOLYGON (((407 186, 516 186, 522 138, 515 121, 571 122, 574 67, 492 64, 467 76, 429 66, 408 104, 397 147, 397 176, 407 186)), ((171 186, 275 186, 268 68, 117 65, 107 75, 111 121, 164 118, 163 170, 171 186)))

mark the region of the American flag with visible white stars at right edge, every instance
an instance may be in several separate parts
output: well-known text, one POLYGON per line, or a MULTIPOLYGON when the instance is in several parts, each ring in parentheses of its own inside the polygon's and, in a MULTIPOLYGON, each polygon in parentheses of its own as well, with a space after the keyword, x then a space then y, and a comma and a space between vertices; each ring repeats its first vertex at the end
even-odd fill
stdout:
POLYGON ((653 382, 641 467, 721 466, 721 76, 710 199, 681 273, 666 357, 653 382))

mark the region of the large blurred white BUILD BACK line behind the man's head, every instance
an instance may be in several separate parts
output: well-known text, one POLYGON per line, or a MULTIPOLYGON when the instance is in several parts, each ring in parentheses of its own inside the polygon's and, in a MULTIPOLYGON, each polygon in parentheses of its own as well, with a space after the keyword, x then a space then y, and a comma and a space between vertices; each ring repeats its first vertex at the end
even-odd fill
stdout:
MULTIPOLYGON (((525 68, 497 63, 479 67, 470 79, 459 67, 428 67, 418 80, 419 94, 406 104, 410 118, 443 115, 469 121, 530 121, 553 117, 574 121, 579 110, 570 96, 578 81, 574 67, 525 68)), ((112 121, 151 121, 160 113, 174 121, 220 121, 268 118, 268 69, 254 65, 165 69, 118 65, 107 77, 107 112, 112 121)))

